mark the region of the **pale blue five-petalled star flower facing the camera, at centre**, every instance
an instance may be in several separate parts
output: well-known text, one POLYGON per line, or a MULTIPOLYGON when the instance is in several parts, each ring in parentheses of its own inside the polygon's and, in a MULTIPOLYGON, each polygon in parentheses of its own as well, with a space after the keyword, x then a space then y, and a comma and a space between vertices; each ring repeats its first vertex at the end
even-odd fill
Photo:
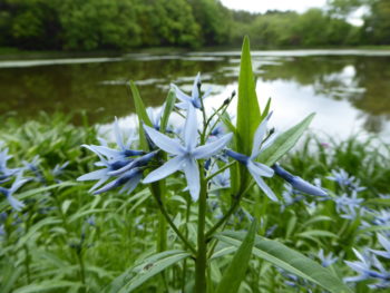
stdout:
POLYGON ((233 135, 227 134, 213 143, 196 147, 198 137, 197 119, 195 108, 193 106, 188 106, 187 119, 183 131, 183 146, 177 140, 163 135, 152 127, 145 125, 144 128, 156 146, 175 156, 159 168, 150 172, 144 179, 144 183, 159 180, 179 169, 183 169, 187 179, 189 194, 193 201, 197 201, 201 184, 196 159, 205 159, 215 155, 226 146, 226 144, 232 139, 233 135))

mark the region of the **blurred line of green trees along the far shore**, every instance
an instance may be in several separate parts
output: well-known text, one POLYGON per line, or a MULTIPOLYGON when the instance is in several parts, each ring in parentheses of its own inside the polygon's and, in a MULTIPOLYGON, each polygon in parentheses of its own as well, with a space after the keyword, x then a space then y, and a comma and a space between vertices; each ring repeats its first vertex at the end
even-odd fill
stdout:
POLYGON ((244 35, 264 47, 390 43, 390 1, 330 3, 326 11, 261 14, 230 10, 217 0, 2 0, 0 46, 81 51, 199 48, 240 45, 244 35), (347 12, 362 4, 371 11, 364 25, 347 22, 347 12))

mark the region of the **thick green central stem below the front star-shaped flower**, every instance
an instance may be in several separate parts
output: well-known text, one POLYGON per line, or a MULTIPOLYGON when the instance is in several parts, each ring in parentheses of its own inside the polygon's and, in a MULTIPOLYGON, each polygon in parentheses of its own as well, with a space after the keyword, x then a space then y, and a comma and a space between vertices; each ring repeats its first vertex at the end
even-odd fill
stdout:
POLYGON ((206 226, 206 207, 207 207, 207 193, 206 180, 203 172, 203 160, 199 160, 199 175, 201 175, 201 195, 198 205, 198 218, 197 218, 197 254, 195 262, 195 292, 205 293, 207 290, 206 284, 206 268, 207 268, 207 242, 205 234, 206 226))

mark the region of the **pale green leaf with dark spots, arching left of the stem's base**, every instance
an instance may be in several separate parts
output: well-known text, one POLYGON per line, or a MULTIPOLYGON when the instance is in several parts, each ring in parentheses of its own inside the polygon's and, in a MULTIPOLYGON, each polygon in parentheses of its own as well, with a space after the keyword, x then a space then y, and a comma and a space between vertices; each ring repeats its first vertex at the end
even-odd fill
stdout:
POLYGON ((191 254, 185 251, 167 251, 152 255, 115 279, 111 284, 105 289, 105 292, 131 292, 150 277, 188 256, 191 256, 191 254))

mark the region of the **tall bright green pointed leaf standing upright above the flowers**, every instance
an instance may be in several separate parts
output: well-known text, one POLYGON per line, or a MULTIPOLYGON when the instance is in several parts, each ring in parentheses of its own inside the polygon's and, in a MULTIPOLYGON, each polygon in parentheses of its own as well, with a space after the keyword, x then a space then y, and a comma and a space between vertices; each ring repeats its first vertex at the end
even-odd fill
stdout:
POLYGON ((252 71, 250 39, 244 38, 241 53, 237 101, 237 152, 250 155, 254 133, 260 124, 260 107, 252 71))

